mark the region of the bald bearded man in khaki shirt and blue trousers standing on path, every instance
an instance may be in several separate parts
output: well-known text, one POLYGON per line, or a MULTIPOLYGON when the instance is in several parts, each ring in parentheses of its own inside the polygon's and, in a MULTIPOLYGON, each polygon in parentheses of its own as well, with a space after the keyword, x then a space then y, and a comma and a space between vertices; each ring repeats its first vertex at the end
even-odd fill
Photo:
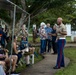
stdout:
POLYGON ((56 33, 57 33, 57 50, 58 50, 58 56, 57 56, 57 63, 56 66, 53 67, 54 69, 59 69, 61 67, 65 67, 64 63, 64 46, 66 44, 66 27, 62 23, 63 19, 59 17, 57 19, 58 26, 56 27, 56 33))

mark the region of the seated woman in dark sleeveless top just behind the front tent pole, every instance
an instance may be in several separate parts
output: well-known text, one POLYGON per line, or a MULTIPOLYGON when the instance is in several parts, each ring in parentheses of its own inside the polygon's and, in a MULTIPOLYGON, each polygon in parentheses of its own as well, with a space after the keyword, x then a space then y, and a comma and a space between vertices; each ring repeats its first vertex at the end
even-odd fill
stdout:
MULTIPOLYGON (((22 57, 22 52, 20 50, 17 50, 17 38, 16 36, 13 36, 13 51, 12 51, 12 57, 16 56, 15 59, 17 59, 17 62, 15 62, 15 65, 18 64, 20 58, 22 57)), ((12 44, 12 37, 10 37, 9 43, 6 46, 6 49, 9 50, 9 55, 11 55, 11 44, 12 44)))

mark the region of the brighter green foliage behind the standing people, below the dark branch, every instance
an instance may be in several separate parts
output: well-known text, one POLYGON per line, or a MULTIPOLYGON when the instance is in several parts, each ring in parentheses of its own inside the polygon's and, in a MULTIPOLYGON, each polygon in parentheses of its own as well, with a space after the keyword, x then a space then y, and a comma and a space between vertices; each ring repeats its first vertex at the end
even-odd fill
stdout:
POLYGON ((73 1, 66 1, 65 3, 64 1, 57 1, 55 1, 56 4, 54 3, 52 7, 49 6, 48 10, 36 16, 33 19, 33 23, 37 23, 39 25, 40 22, 44 21, 45 23, 49 22, 51 25, 54 25, 58 17, 62 17, 64 23, 74 23, 73 19, 75 19, 75 8, 73 8, 73 1), (58 5, 59 3, 63 4, 58 5))

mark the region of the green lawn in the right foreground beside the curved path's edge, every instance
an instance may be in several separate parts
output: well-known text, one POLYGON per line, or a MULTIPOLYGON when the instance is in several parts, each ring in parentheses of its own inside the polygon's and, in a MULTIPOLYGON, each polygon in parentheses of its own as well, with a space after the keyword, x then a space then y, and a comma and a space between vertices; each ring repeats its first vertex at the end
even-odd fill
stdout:
POLYGON ((65 56, 70 59, 70 64, 55 75, 76 75, 76 49, 65 48, 65 56))

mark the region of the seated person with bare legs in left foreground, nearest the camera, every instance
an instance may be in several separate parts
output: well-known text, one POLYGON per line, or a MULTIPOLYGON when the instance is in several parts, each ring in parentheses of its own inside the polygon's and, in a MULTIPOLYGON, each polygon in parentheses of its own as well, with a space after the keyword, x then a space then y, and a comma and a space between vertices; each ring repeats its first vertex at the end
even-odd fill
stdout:
POLYGON ((5 68, 6 67, 6 73, 9 71, 10 67, 10 61, 12 63, 12 71, 14 70, 14 61, 8 57, 8 50, 0 47, 0 64, 5 68))

